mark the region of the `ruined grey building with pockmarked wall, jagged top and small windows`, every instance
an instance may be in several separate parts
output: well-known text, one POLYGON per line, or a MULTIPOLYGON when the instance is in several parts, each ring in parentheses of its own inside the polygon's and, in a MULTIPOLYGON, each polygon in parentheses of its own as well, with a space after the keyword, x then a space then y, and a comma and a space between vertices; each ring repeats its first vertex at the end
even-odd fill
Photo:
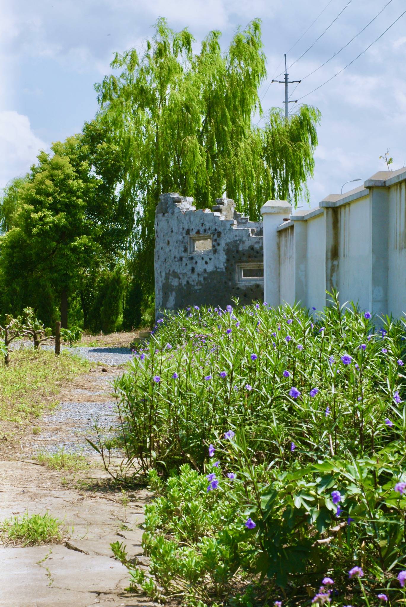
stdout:
POLYGON ((242 304, 263 298, 262 222, 235 212, 230 198, 215 202, 214 212, 196 211, 193 198, 161 195, 155 211, 157 312, 195 305, 224 308, 232 297, 242 304))

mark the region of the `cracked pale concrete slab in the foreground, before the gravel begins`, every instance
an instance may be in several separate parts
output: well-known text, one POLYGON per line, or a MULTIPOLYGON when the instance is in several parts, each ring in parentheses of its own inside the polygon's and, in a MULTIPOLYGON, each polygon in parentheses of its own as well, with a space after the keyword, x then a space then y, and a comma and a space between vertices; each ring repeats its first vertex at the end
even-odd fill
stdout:
POLYGON ((152 605, 124 591, 129 575, 110 549, 123 541, 130 557, 146 564, 140 523, 149 493, 129 492, 124 507, 101 469, 76 475, 78 484, 69 487, 61 486, 63 475, 28 460, 0 461, 0 521, 27 510, 49 512, 63 521, 65 534, 61 544, 0 548, 0 606, 152 605))

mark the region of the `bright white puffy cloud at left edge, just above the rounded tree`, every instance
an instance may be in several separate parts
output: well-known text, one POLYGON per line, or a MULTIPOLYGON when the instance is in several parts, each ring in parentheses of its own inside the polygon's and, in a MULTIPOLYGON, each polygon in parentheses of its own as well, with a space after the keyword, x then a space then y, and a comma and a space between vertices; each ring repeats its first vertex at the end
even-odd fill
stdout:
POLYGON ((12 177, 29 171, 40 149, 48 148, 32 132, 27 116, 13 111, 0 112, 0 188, 12 177))

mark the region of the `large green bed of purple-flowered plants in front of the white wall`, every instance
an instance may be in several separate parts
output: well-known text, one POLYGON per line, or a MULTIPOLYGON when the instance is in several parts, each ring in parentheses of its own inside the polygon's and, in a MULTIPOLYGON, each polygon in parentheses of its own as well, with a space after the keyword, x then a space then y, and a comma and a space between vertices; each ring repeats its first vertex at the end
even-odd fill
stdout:
POLYGON ((151 575, 115 545, 132 585, 185 605, 303 602, 313 589, 321 605, 334 598, 325 581, 317 591, 325 578, 348 605, 360 595, 346 572, 362 566, 366 591, 396 597, 404 326, 376 324, 334 294, 316 317, 254 304, 159 324, 114 386, 129 462, 158 495, 143 540, 151 575))

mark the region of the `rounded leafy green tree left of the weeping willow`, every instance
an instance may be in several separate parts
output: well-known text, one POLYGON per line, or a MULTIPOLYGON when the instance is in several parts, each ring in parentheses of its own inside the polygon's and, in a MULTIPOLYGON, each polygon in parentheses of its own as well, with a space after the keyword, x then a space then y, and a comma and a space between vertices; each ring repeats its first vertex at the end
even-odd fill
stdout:
POLYGON ((101 149, 108 146, 94 141, 90 146, 90 135, 97 140, 96 124, 88 126, 87 140, 76 135, 53 144, 52 154, 40 152, 18 187, 15 210, 4 212, 12 217, 0 242, 4 311, 32 305, 48 324, 59 308, 67 327, 69 296, 81 276, 114 266, 126 246, 132 212, 111 181, 96 173, 101 149))

